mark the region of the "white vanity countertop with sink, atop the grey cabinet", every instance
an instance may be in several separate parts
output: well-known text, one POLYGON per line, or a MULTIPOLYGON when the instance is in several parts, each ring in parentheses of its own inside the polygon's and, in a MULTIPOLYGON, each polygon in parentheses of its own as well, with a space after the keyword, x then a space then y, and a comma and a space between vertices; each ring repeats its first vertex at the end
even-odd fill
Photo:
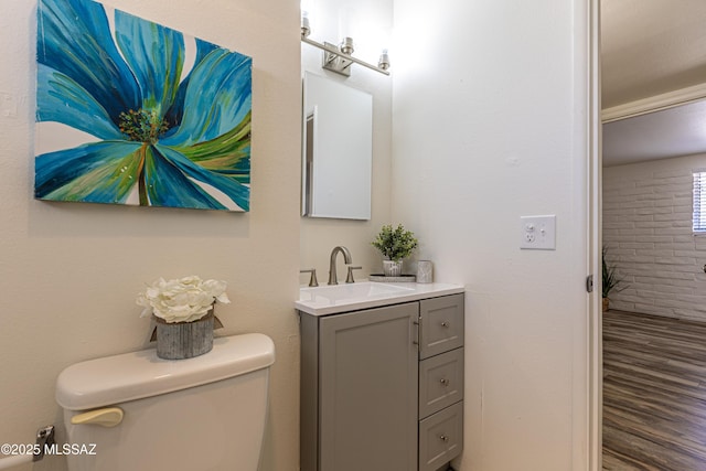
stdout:
POLYGON ((452 283, 361 281, 317 288, 302 287, 295 307, 312 315, 328 315, 463 291, 463 286, 452 283))

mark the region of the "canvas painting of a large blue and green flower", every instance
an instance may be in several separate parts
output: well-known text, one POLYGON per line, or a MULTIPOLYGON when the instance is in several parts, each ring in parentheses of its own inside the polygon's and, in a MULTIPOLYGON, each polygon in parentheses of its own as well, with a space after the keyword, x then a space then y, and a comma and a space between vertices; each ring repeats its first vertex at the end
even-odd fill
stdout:
POLYGON ((249 211, 250 57, 88 0, 38 22, 38 199, 249 211))

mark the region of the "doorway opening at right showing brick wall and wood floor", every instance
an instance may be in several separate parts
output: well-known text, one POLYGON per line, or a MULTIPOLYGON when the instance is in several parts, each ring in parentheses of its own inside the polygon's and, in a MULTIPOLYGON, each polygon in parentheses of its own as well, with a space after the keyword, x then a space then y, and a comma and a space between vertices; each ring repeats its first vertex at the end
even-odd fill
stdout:
POLYGON ((706 469, 706 389, 694 379, 706 354, 688 336, 706 328, 706 238, 692 225, 693 173, 706 169, 706 4, 600 8, 601 245, 621 278, 601 325, 603 469, 706 469))

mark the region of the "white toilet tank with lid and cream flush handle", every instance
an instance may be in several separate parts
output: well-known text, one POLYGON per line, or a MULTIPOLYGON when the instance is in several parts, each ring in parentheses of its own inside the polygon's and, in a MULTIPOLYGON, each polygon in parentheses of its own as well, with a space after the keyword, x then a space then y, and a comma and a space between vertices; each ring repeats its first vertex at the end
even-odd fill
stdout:
POLYGON ((67 367, 56 402, 68 469, 256 471, 274 362, 271 339, 252 333, 215 339, 189 360, 152 349, 67 367))

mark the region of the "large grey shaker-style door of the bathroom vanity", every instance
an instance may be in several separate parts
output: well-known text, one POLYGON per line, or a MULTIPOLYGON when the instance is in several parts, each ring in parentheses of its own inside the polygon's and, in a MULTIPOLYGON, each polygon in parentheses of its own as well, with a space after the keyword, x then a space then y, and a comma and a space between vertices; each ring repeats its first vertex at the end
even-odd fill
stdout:
POLYGON ((319 471, 417 469, 418 303, 320 320, 319 471))

